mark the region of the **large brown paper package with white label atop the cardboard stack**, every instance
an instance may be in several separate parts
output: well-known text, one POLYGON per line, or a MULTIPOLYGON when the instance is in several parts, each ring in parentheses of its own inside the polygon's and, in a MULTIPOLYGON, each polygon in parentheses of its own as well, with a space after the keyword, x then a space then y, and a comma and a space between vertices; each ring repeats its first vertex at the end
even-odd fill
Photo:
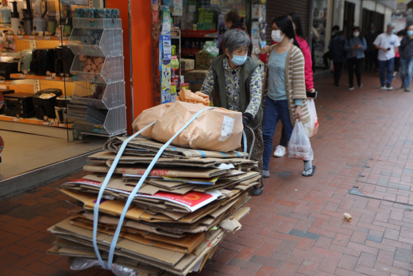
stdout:
MULTIPOLYGON (((144 110, 132 124, 138 131, 153 121, 151 127, 142 132, 143 136, 167 142, 205 105, 200 103, 165 103, 144 110)), ((172 144, 191 149, 212 151, 233 151, 241 146, 242 114, 220 107, 205 110, 172 144)))

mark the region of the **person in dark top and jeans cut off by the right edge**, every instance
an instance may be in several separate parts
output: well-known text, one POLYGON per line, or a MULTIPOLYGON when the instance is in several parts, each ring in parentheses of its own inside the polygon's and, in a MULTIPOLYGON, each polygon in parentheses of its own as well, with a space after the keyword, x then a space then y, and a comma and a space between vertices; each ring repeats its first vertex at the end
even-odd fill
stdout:
POLYGON ((400 44, 401 88, 404 88, 405 92, 410 92, 410 81, 413 76, 413 25, 407 28, 400 44))

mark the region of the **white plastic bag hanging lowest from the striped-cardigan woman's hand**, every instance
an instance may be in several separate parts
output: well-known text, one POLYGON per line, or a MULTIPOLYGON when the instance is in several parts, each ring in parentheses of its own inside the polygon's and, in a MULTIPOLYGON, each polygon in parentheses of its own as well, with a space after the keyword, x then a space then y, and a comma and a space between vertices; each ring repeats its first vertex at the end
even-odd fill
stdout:
POLYGON ((288 144, 288 157, 299 160, 313 160, 313 149, 303 123, 296 120, 293 133, 288 144))

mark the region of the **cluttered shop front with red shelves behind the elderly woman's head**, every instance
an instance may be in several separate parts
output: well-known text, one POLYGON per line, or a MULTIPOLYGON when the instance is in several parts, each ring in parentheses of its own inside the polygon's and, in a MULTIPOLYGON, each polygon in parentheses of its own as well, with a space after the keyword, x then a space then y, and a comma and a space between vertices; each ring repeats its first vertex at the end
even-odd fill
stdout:
POLYGON ((265 1, 151 1, 153 105, 173 102, 181 87, 199 91, 220 54, 224 17, 236 11, 258 59, 265 45, 265 1))

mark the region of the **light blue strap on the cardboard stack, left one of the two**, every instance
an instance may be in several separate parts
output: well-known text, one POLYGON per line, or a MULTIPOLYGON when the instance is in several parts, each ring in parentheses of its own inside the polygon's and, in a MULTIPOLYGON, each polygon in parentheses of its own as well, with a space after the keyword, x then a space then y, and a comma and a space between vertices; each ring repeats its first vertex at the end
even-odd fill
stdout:
MULTIPOLYGON (((98 193, 98 198, 96 199, 96 204, 93 208, 93 237, 92 237, 92 242, 93 242, 94 251, 96 253, 96 257, 98 257, 99 264, 100 264, 100 266, 102 266, 102 268, 109 269, 105 266, 105 263, 103 262, 103 259, 100 256, 98 244, 96 242, 96 235, 97 235, 97 231, 98 231, 99 204, 100 204, 100 200, 102 200, 103 191, 105 191, 107 183, 109 182, 110 178, 112 177, 112 174, 115 171, 116 165, 118 164, 118 162, 120 160, 120 156, 122 156, 122 153, 125 150, 127 143, 130 140, 132 140, 133 138, 135 138, 136 136, 138 136, 139 134, 141 134, 142 131, 144 131, 148 127, 151 127, 151 125, 153 125, 155 122, 156 121, 153 121, 151 124, 147 125, 143 129, 140 129, 140 131, 136 132, 136 134, 133 134, 132 136, 127 138, 125 141, 123 141, 122 146, 120 146, 118 154, 116 154, 116 158, 115 158, 114 162, 112 163, 111 167, 109 168, 109 171, 107 172, 105 180, 103 180, 102 186, 100 187, 100 190, 99 190, 99 193, 98 193)), ((111 266, 112 266, 112 264, 111 264, 111 266)), ((108 267, 110 267, 110 266, 108 266, 108 267)))

